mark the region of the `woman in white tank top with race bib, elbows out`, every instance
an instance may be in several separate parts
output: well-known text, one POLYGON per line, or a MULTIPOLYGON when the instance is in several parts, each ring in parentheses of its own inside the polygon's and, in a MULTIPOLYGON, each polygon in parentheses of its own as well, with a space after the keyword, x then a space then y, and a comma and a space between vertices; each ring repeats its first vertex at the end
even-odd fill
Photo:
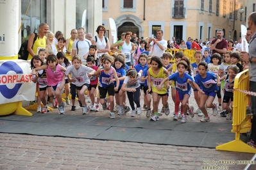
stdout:
POLYGON ((123 42, 114 43, 111 45, 110 49, 115 49, 119 53, 123 53, 125 56, 125 63, 129 66, 129 68, 132 68, 132 54, 135 51, 135 46, 132 42, 130 42, 132 38, 132 32, 125 33, 125 40, 123 42), (117 47, 121 46, 121 50, 117 49, 117 47))

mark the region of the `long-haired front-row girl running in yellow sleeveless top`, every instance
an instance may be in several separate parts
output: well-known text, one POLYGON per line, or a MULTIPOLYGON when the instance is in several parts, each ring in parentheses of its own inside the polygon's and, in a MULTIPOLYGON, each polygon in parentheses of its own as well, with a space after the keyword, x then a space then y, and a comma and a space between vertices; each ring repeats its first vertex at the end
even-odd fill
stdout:
POLYGON ((157 56, 153 56, 150 61, 151 68, 148 69, 148 90, 147 93, 151 91, 153 95, 153 116, 151 120, 157 121, 158 118, 158 100, 162 98, 162 104, 164 105, 164 112, 166 115, 169 114, 169 105, 167 102, 167 89, 169 89, 169 83, 165 82, 162 88, 159 90, 157 86, 167 77, 169 76, 169 72, 162 65, 162 59, 157 56))

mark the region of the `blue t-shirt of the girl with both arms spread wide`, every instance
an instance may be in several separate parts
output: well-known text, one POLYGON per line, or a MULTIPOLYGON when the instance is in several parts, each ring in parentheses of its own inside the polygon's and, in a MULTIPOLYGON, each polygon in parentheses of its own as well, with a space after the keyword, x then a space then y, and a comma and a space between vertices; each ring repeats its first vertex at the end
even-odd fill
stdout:
POLYGON ((171 81, 175 81, 175 87, 178 93, 185 94, 188 91, 191 91, 191 84, 187 83, 187 80, 191 79, 191 81, 194 82, 194 79, 188 73, 184 73, 184 76, 180 77, 178 72, 176 72, 176 73, 173 73, 172 75, 169 75, 168 78, 171 81))

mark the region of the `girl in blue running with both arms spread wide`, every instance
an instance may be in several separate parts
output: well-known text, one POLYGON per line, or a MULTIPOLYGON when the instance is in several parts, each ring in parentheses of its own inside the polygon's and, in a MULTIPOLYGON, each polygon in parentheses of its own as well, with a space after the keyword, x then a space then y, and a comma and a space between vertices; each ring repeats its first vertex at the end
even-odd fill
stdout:
MULTIPOLYGON (((182 114, 181 123, 186 123, 187 110, 192 110, 192 106, 189 107, 189 104, 188 104, 189 97, 191 95, 191 85, 190 84, 192 84, 193 87, 198 89, 198 91, 200 91, 200 93, 203 93, 203 91, 194 82, 193 77, 191 77, 191 75, 189 75, 191 70, 189 69, 189 65, 187 65, 187 63, 185 63, 184 61, 180 61, 177 65, 177 67, 178 67, 178 69, 177 69, 178 72, 174 73, 173 75, 169 75, 169 77, 164 79, 157 86, 157 88, 161 89, 162 84, 164 84, 164 82, 166 82, 166 81, 169 81, 169 80, 175 81, 175 87, 178 90, 178 97, 180 99, 180 102, 182 102, 183 111, 185 112, 185 114, 182 114), (189 73, 185 73, 187 70, 189 70, 189 73)), ((194 112, 191 111, 190 115, 191 115, 191 118, 193 118, 194 112)), ((173 120, 178 120, 178 114, 175 114, 175 116, 173 116, 173 120)))

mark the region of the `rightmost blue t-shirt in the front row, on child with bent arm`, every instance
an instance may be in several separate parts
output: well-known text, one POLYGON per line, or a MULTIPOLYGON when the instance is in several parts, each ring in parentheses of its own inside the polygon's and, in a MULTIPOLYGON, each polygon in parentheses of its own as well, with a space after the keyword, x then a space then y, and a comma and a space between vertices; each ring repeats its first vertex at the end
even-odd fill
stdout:
POLYGON ((211 91, 218 91, 219 86, 216 84, 216 74, 212 72, 206 72, 206 77, 202 78, 200 74, 194 77, 194 81, 198 86, 201 86, 203 91, 211 92, 211 91))

